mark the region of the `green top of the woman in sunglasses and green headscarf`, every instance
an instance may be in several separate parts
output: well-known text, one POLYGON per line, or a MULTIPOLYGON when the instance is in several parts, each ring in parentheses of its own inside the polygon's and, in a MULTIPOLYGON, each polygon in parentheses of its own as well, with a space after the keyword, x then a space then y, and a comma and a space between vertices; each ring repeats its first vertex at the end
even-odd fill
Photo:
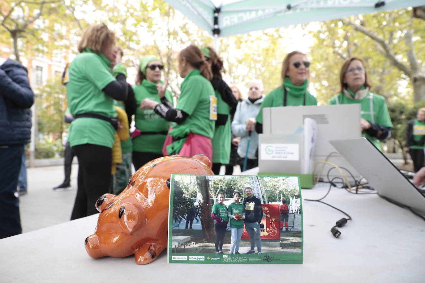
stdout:
MULTIPOLYGON (((138 105, 134 115, 135 126, 136 129, 142 132, 141 135, 133 138, 133 151, 161 154, 165 137, 167 137, 166 133, 170 128, 170 122, 156 114, 153 109, 140 109, 140 103, 145 98, 161 103, 156 84, 143 80, 142 84, 133 87, 133 91, 136 97, 136 105, 138 105), (158 134, 144 134, 143 132, 156 132, 158 134), (159 134, 159 132, 164 133, 159 134)), ((170 90, 165 91, 165 97, 173 104, 173 95, 170 90)))

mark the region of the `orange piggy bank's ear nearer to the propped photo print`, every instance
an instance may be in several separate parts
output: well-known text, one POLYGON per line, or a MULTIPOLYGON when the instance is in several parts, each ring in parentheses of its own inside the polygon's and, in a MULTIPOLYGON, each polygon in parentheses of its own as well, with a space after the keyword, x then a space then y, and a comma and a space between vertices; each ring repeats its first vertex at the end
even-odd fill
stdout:
POLYGON ((144 209, 139 204, 125 202, 118 211, 118 223, 126 233, 133 233, 145 223, 144 209))

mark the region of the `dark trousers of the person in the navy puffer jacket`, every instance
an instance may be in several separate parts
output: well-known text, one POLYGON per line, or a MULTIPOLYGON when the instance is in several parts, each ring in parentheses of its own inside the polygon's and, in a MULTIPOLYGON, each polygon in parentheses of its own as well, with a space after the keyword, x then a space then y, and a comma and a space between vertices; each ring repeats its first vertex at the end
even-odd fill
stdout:
POLYGON ((0 239, 22 233, 18 185, 24 145, 0 146, 0 239))

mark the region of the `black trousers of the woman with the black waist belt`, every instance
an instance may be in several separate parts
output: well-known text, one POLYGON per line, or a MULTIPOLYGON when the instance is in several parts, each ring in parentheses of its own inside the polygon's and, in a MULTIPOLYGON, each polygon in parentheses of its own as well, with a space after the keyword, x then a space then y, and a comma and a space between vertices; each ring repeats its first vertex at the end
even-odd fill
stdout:
POLYGON ((95 203, 111 186, 112 149, 83 144, 73 146, 78 158, 78 188, 71 220, 98 213, 95 203))

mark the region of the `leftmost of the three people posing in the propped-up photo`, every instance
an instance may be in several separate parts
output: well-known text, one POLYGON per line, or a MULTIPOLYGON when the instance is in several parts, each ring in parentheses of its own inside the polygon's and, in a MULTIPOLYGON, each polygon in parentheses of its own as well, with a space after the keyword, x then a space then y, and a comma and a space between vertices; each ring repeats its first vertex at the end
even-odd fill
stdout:
POLYGON ((218 194, 218 202, 212 207, 211 218, 215 220, 215 253, 223 253, 223 241, 226 235, 227 223, 229 216, 227 216, 227 207, 224 204, 224 193, 218 194))

